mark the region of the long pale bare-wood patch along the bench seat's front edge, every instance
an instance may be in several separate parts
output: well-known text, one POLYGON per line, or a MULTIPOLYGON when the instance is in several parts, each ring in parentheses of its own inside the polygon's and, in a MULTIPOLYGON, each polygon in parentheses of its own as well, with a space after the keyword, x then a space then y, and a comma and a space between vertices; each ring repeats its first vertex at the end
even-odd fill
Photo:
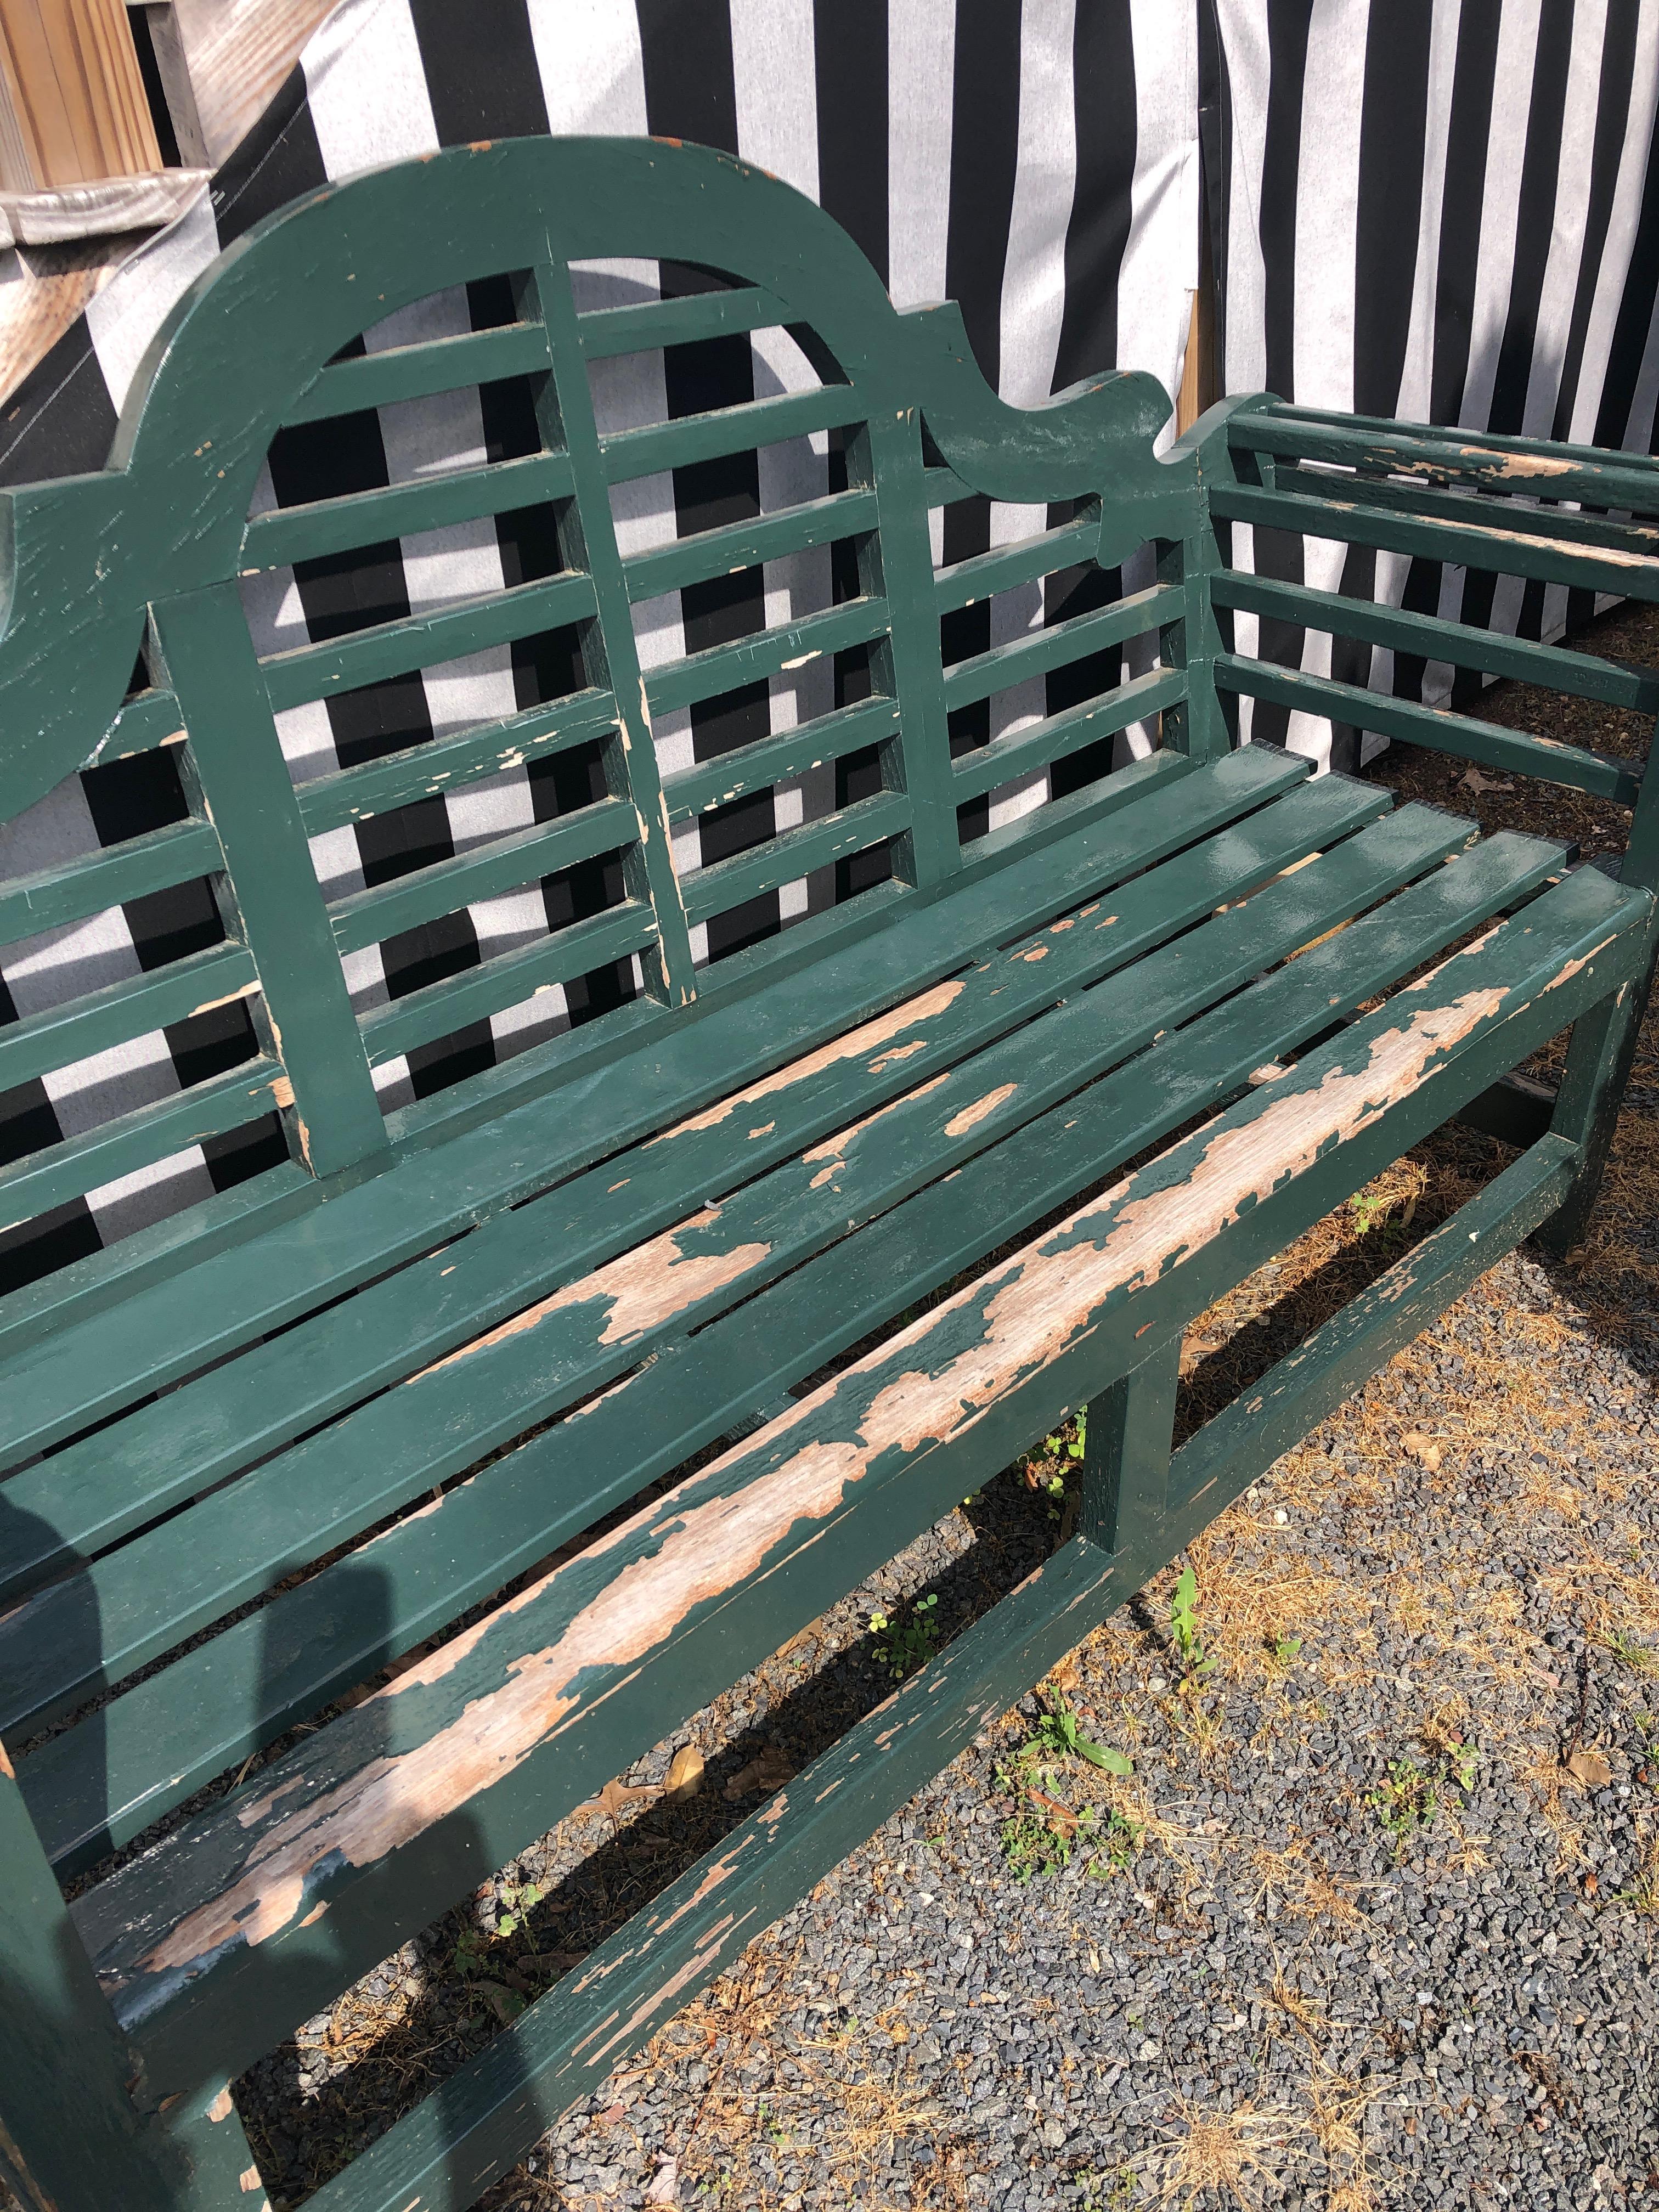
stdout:
MULTIPOLYGON (((1398 1102, 1429 1082, 1442 1057, 1502 1006, 1504 993, 1493 987, 1444 1000, 1431 995, 1436 982, 1453 980, 1484 942, 1409 987, 1402 1018, 1376 1031, 1363 1062, 1334 1066, 1316 1086, 1263 1110, 1221 1117, 1183 1181, 1164 1186, 1157 1168, 1128 1177, 1015 1252, 987 1281, 956 1292, 712 1467, 602 1535, 580 1568, 553 1568, 378 1690, 369 1703, 440 1681, 491 1624, 535 1610, 562 1575, 568 1579, 575 1571, 591 1582, 608 1555, 624 1562, 573 1608, 551 1644, 515 1659, 502 1688, 473 1699, 449 1728, 409 1752, 372 1759, 312 1803, 296 1792, 290 1798, 292 1785, 279 1783, 274 1796, 241 1807, 241 1825, 259 1829, 285 1801, 283 1816, 252 1845, 246 1871, 166 1931, 142 1969, 190 1969, 237 1938, 265 1942, 299 1916, 321 1863, 338 1856, 363 1867, 411 1843, 555 1734, 580 1710, 584 1681, 595 1670, 644 1659, 701 1604, 759 1573, 792 1531, 805 1537, 810 1524, 836 1515, 885 1453, 909 1455, 973 1427, 1018 1376, 1093 1329, 1108 1298, 1188 1261, 1265 1194, 1305 1175, 1332 1144, 1354 1135, 1380 1102, 1398 1102), (971 1312, 982 1316, 978 1340, 940 1356, 971 1312), (891 1374, 896 1354, 909 1349, 914 1365, 878 1383, 891 1374), (872 1383, 878 1387, 867 1396, 872 1383), (836 1433, 843 1427, 836 1409, 865 1396, 856 1433, 836 1433), (794 1449, 790 1438, 799 1438, 794 1449), (781 1464, 759 1473, 765 1460, 781 1464), (710 1493, 721 1473, 748 1464, 757 1467, 750 1482, 710 1493)), ((1551 987, 1571 980, 1582 964, 1568 962, 1551 987)))

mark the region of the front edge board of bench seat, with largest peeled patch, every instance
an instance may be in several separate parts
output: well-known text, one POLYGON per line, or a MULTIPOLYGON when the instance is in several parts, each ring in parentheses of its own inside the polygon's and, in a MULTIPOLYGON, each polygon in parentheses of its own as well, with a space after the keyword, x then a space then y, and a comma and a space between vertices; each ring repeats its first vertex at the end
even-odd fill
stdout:
POLYGON ((1139 1338, 1170 1336, 1338 1183, 1628 978, 1650 927, 1646 894, 1582 869, 82 1898, 157 2090, 206 2053, 246 2064, 281 2015, 372 1964, 387 1924, 511 1858, 810 1619, 818 1577, 856 1584, 964 1473, 995 1471, 1088 1378, 1133 1367, 1139 1338), (803 1551, 812 1577, 787 1573, 803 1551), (641 1601, 628 1571, 646 1557, 641 1601))

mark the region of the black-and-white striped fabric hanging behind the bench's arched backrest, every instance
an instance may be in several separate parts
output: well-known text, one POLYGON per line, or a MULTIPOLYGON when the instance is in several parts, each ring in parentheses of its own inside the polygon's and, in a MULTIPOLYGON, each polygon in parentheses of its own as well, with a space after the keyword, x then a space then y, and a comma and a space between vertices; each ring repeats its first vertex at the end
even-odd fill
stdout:
MULTIPOLYGON (((987 376, 1011 400, 1046 398, 1102 367, 1150 369, 1168 389, 1181 372, 1197 281, 1197 22, 1152 0, 345 0, 307 44, 281 97, 173 230, 128 261, 9 398, 0 482, 95 469, 144 349, 184 288, 254 221, 330 177, 436 146, 524 133, 655 133, 732 148, 818 199, 858 239, 898 305, 962 303, 987 376)), ((580 305, 697 285, 699 272, 604 265, 582 272, 580 305)), ((511 319, 507 283, 416 303, 365 334, 380 347, 511 319)), ((695 414, 810 380, 783 332, 712 341, 677 354, 595 365, 602 427, 695 414)), ((500 460, 535 445, 529 400, 511 387, 462 392, 283 431, 263 498, 288 507, 321 493, 405 482, 434 469, 500 460)), ((796 440, 737 465, 679 469, 619 487, 624 553, 832 489, 834 440, 796 440)), ((962 502, 936 515, 936 557, 960 560, 1042 529, 1044 511, 962 502)), ((500 518, 429 533, 301 575, 250 580, 248 619, 261 653, 336 637, 365 622, 500 591, 546 573, 546 524, 500 518)), ((657 666, 847 595, 832 555, 768 564, 637 608, 641 659, 657 666)), ((962 657, 1033 624, 1079 613, 1117 577, 1075 571, 949 617, 962 657)), ((279 717, 296 781, 403 750, 427 737, 553 697, 571 668, 544 666, 571 646, 531 641, 398 684, 279 717)), ((1150 641, 1148 641, 1150 650, 1150 641)), ((661 717, 664 765, 712 759, 768 730, 860 692, 856 655, 823 672, 774 679, 690 712, 661 717), (832 690, 834 688, 834 690, 832 690)), ((1119 675, 1137 672, 1117 664, 1119 675)), ((1099 677, 1095 675, 1095 681, 1099 677)), ((969 708, 958 748, 989 743, 1044 710, 1060 679, 969 708)), ((1110 681, 1110 679, 1108 679, 1110 681)), ((1135 739, 1148 743, 1146 732, 1135 739)), ((1075 772, 1075 763, 1068 763, 1075 772)), ((872 770, 874 772, 874 763, 872 770)), ((1099 770, 1093 770, 1099 772, 1099 770)), ((447 799, 403 807, 314 841, 330 896, 427 867, 593 796, 597 761, 571 754, 491 776, 447 799)), ((684 825, 684 872, 712 865, 860 796, 860 761, 781 785, 684 825), (823 781, 825 787, 816 787, 823 781)), ((1000 827, 1057 796, 1062 772, 993 790, 964 832, 1000 827)), ((1066 785, 1068 787, 1068 785, 1066 785)), ((184 812, 166 754, 73 779, 0 827, 0 876, 115 843, 184 812)), ((717 960, 794 916, 865 887, 860 856, 825 880, 785 885, 710 918, 695 951, 717 960)), ((604 863, 487 900, 347 958, 358 1009, 611 905, 604 863), (557 909, 557 911, 555 911, 557 909)), ((0 1020, 62 1002, 97 982, 212 942, 208 887, 161 894, 0 949, 0 1020), (201 911, 197 911, 201 909, 201 911), (190 938, 190 931, 197 931, 190 938)), ((389 1113, 602 1013, 637 989, 630 962, 540 993, 531 1006, 476 1024, 376 1071, 389 1113)), ((115 1113, 173 1093, 252 1053, 239 1004, 166 1035, 82 1062, 0 1099, 0 1159, 20 1157, 115 1113)), ((97 1190, 60 1217, 0 1237, 0 1287, 97 1250, 281 1157, 272 1128, 197 1146, 97 1190), (7 1250, 11 1248, 11 1250, 7 1250)))

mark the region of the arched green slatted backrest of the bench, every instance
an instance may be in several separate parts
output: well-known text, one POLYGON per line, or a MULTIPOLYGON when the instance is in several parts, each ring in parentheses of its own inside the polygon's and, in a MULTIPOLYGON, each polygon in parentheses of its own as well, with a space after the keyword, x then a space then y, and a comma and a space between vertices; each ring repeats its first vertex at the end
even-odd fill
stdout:
MULTIPOLYGON (((294 1170, 330 1177, 493 1113, 551 1062, 617 1051, 757 960, 805 958, 770 942, 703 973, 768 894, 814 942, 825 909, 841 936, 876 927, 960 876, 975 810, 1051 763, 1075 818, 1113 734, 1186 695, 1179 650, 1117 686, 1126 641, 1179 633, 1179 557, 1126 599, 1091 584, 1181 535, 1192 471, 1150 456, 1164 411, 1133 376, 1002 407, 953 310, 896 316, 834 223, 701 148, 445 153, 261 226, 175 310, 111 469, 9 495, 0 816, 51 849, 27 810, 95 805, 102 776, 155 818, 0 891, 0 942, 33 991, 0 1040, 0 1088, 69 1102, 60 1141, 0 1168, 9 1241, 88 1192, 166 1179, 190 1146, 234 1161, 226 1188, 259 1170, 259 1197, 292 1203, 294 1170), (591 274, 599 257, 681 290, 580 312, 580 292, 617 290, 591 274), (425 336, 456 299, 500 321, 425 336), (750 338, 781 389, 639 407, 664 356, 695 369, 750 338), (619 403, 611 425, 595 392, 619 403), (469 407, 482 458, 398 473, 405 418, 469 407), (750 471, 748 511, 639 542, 633 495, 714 465, 750 471), (836 489, 801 495, 814 467, 836 489), (969 493, 1031 526, 936 564, 940 509, 969 493), (376 597, 387 540, 418 604, 376 597), (942 624, 1060 571, 1077 613, 945 666, 942 624), (681 604, 684 624, 664 613, 681 604), (688 650, 710 626, 719 641, 688 650), (64 779, 88 768, 80 801, 64 779), (757 841, 768 794, 785 799, 757 841), (721 856, 688 867, 688 825, 710 814, 730 825, 708 836, 721 856), (104 918, 119 929, 117 909, 157 896, 190 907, 179 956, 106 982, 104 918), (75 931, 71 949, 53 936, 75 931), (100 1108, 131 1097, 100 1071, 157 1033, 199 1075, 100 1108), (538 1042, 467 1082, 480 1048, 538 1042)), ((1057 830, 1002 812, 967 847, 978 865, 1057 830)), ((219 1212, 246 1223, 254 1203, 237 1190, 219 1212)))

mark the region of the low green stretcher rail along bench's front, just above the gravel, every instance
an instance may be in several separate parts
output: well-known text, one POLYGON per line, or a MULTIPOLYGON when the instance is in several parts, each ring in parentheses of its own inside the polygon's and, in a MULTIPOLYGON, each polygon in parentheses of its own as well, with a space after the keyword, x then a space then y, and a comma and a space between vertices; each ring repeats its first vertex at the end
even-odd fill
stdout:
MULTIPOLYGON (((1371 1374, 1378 1356, 1387 1356, 1389 1345, 1409 1343, 1460 1285, 1493 1263, 1493 1254, 1513 1250, 1531 1234, 1559 1203, 1575 1159, 1577 1148, 1566 1139, 1542 1139, 1356 1298, 1347 1312, 1369 1356, 1349 1363, 1345 1387, 1305 1389, 1301 1405, 1312 1398, 1325 1409, 1340 1402, 1345 1389, 1371 1374)), ((1347 1321, 1347 1314, 1340 1318, 1347 1321)), ((1274 1369, 1267 1383, 1279 1374, 1274 1369)), ((1290 1442, 1307 1427, 1310 1418, 1281 1425, 1290 1442)), ((310 2199, 312 2212, 442 2203, 438 2192, 458 2168, 480 2185, 507 2174, 568 2104, 599 2090, 628 2051, 644 2048, 646 2037, 666 2026, 695 1984, 708 1986, 712 1975, 734 1964, 759 1929, 900 1812, 956 1752, 967 1750, 987 1717, 1009 1705, 1018 1686, 1040 1681, 1057 1657, 1075 1650, 1097 1621, 1144 1586, 1170 1544, 1190 1542, 1245 1484, 1259 1480, 1265 1453, 1254 1438, 1241 1442, 1237 1462, 1228 1462, 1219 1460, 1223 1447, 1217 1440, 1219 1469, 1214 1460, 1192 1469, 1199 1482, 1208 1475, 1208 1484, 1192 1504, 1175 1506, 1150 1542, 1141 1533, 1119 1557, 1086 1537, 1064 1544, 929 1659, 894 1699, 814 1759, 781 1803, 772 1798, 750 1814, 591 1951, 580 1971, 562 1978, 502 2037, 449 2075, 440 2099, 416 2106, 347 2174, 325 2183, 310 2199)), ((1186 1453, 1177 1455, 1177 1469, 1181 1458, 1186 1453)))

